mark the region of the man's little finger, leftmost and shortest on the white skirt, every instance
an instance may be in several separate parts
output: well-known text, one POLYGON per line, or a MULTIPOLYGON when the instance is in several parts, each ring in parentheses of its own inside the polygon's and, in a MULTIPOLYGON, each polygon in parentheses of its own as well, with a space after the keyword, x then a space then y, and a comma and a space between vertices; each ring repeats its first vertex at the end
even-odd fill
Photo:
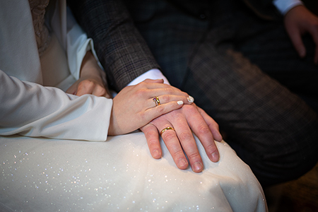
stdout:
POLYGON ((153 124, 147 124, 146 126, 141 127, 141 131, 146 136, 147 144, 151 156, 155 159, 162 157, 163 153, 160 147, 159 134, 157 128, 153 124))

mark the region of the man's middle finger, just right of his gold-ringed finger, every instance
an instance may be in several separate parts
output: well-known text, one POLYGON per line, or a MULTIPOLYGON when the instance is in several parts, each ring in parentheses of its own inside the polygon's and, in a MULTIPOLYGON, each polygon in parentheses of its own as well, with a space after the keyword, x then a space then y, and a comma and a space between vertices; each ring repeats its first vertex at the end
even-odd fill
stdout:
POLYGON ((192 170, 194 172, 201 172, 204 169, 202 158, 196 146, 196 141, 194 140, 192 131, 187 124, 187 119, 185 119, 182 114, 182 116, 174 119, 172 124, 175 128, 181 146, 189 159, 192 170))

